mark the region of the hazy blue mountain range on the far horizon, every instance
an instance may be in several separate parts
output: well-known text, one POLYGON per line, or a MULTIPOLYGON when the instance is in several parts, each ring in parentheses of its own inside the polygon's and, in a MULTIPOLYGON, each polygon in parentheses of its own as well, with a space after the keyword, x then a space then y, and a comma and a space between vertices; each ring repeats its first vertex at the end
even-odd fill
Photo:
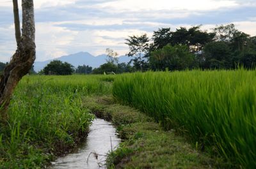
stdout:
MULTIPOLYGON (((43 62, 35 62, 34 63, 34 69, 35 71, 40 71, 44 69, 44 67, 53 60, 60 60, 63 62, 68 62, 72 64, 73 66, 77 67, 79 65, 89 65, 93 68, 98 68, 101 64, 104 64, 106 62, 107 55, 97 55, 93 56, 92 54, 89 54, 88 52, 79 52, 77 54, 71 54, 71 55, 63 55, 61 57, 43 61, 43 62)), ((131 57, 128 57, 127 55, 122 55, 118 57, 119 62, 129 62, 131 60, 131 57)))

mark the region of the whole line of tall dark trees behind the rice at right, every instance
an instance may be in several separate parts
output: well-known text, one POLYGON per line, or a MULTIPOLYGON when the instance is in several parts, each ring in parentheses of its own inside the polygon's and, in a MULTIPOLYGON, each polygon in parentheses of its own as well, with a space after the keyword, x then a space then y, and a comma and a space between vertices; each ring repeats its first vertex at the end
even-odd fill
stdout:
POLYGON ((129 36, 127 55, 134 68, 143 71, 254 68, 256 36, 237 30, 234 24, 215 27, 211 33, 200 27, 160 28, 152 38, 147 34, 129 36))

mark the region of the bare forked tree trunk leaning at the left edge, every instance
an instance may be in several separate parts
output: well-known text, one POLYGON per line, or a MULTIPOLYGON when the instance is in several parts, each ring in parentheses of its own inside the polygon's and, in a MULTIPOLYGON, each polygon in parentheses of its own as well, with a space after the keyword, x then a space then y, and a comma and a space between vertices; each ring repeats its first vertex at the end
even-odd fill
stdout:
POLYGON ((12 93, 19 80, 29 73, 35 61, 35 18, 33 0, 22 0, 22 36, 20 36, 19 9, 17 0, 13 0, 15 37, 17 50, 0 77, 0 115, 1 121, 8 119, 7 109, 12 93))

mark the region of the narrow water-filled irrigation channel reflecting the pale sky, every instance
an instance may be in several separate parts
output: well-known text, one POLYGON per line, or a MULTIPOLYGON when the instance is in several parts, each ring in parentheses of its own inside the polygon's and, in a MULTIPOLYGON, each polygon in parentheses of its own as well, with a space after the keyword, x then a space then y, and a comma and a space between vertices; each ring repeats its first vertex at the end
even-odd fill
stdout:
POLYGON ((90 126, 90 133, 86 142, 75 152, 67 154, 52 162, 51 169, 63 168, 106 168, 106 154, 115 149, 120 143, 116 135, 116 129, 110 122, 103 119, 95 119, 90 126))

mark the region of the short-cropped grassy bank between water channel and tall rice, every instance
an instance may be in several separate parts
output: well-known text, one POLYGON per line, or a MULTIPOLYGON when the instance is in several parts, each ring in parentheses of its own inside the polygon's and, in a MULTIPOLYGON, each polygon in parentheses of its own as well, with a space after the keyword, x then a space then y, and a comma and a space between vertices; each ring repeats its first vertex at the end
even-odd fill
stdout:
POLYGON ((88 97, 84 107, 112 121, 124 140, 108 156, 108 168, 224 168, 223 161, 196 151, 175 131, 163 131, 145 114, 114 103, 109 96, 88 97))

